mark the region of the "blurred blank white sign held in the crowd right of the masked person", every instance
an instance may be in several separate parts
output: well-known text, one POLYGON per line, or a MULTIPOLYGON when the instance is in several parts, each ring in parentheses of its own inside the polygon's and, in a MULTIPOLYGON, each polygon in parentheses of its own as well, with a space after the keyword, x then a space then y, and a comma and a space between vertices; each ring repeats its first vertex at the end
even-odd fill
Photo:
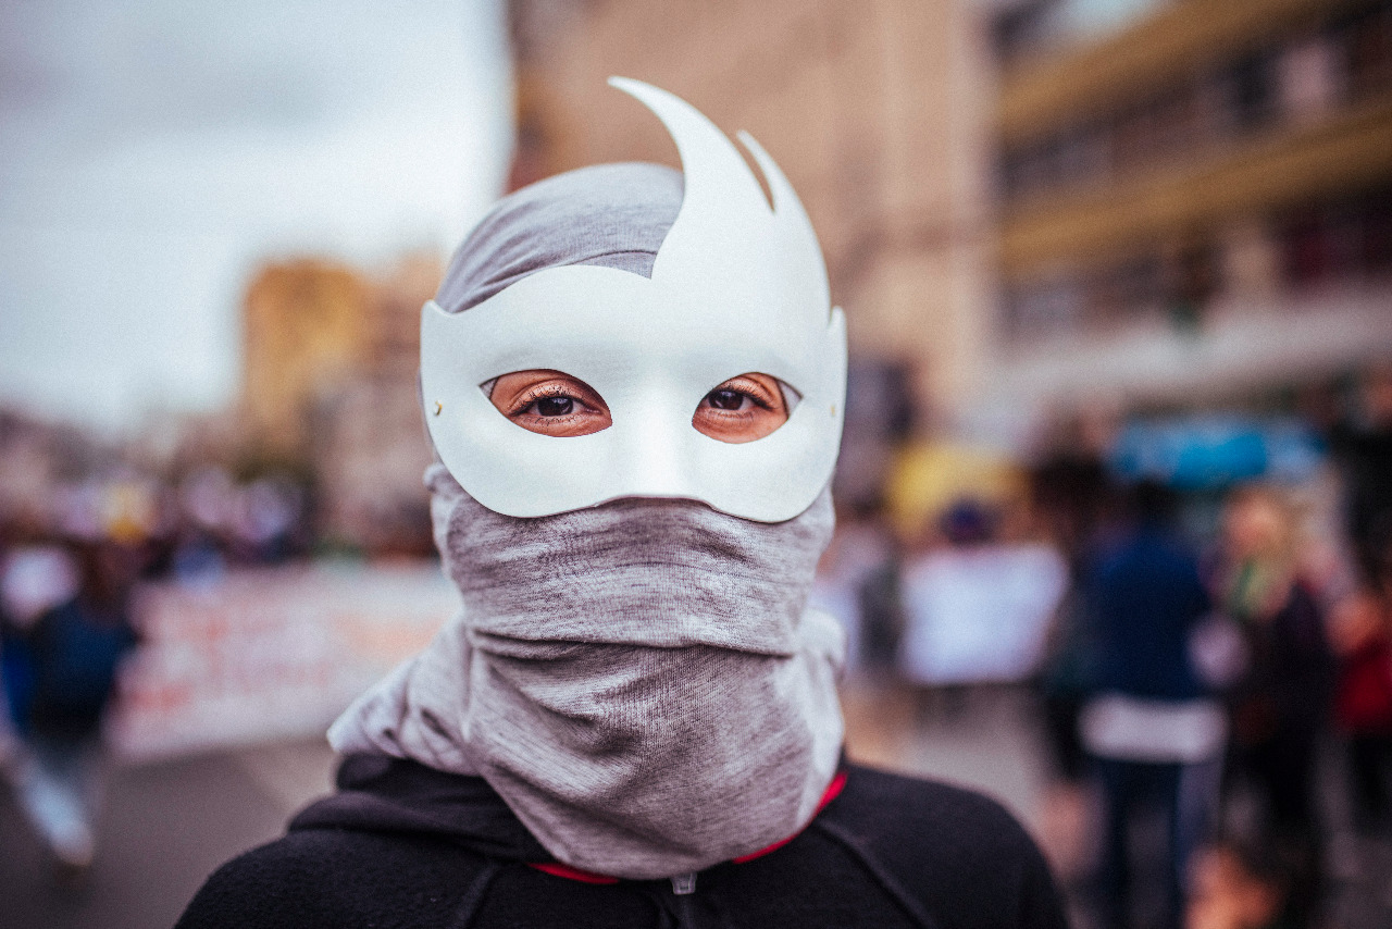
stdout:
POLYGON ((1066 568, 1038 545, 949 549, 903 572, 905 677, 919 684, 1020 681, 1043 657, 1066 568))

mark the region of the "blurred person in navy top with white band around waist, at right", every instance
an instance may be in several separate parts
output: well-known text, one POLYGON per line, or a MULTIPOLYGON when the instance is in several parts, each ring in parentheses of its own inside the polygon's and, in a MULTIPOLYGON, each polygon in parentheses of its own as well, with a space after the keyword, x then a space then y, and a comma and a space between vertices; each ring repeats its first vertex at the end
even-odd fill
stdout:
POLYGON ((1221 755, 1224 716, 1189 656, 1208 593, 1196 559, 1173 533, 1173 494, 1141 482, 1129 503, 1128 531, 1100 556, 1086 582, 1097 689, 1083 709, 1080 733, 1104 801, 1105 923, 1132 925, 1129 832, 1133 819, 1151 809, 1168 825, 1161 869, 1168 911, 1157 925, 1178 926, 1185 869, 1207 826, 1205 774, 1221 755))

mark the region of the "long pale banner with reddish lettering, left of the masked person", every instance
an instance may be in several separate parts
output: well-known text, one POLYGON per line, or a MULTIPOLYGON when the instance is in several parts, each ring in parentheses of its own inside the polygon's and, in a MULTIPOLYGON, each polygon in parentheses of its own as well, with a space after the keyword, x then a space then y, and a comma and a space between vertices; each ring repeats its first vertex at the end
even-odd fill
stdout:
POLYGON ((323 734, 458 610, 438 568, 244 571, 145 588, 109 734, 134 759, 323 734))

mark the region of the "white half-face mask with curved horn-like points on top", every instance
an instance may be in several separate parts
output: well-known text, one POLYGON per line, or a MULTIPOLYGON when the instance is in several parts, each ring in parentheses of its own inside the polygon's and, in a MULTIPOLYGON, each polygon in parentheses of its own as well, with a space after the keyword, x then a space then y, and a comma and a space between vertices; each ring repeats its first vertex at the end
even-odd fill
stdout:
POLYGON ((461 313, 427 302, 420 383, 430 437, 459 485, 504 515, 681 497, 759 522, 791 520, 831 478, 845 405, 845 318, 830 306, 812 223, 748 134, 741 141, 773 209, 710 120, 650 85, 610 84, 657 114, 682 159, 682 208, 651 279, 551 267, 461 313), (604 398, 612 425, 571 437, 516 425, 484 391, 529 369, 583 380, 604 398), (788 421, 738 444, 697 432, 702 400, 756 372, 785 384, 788 421))

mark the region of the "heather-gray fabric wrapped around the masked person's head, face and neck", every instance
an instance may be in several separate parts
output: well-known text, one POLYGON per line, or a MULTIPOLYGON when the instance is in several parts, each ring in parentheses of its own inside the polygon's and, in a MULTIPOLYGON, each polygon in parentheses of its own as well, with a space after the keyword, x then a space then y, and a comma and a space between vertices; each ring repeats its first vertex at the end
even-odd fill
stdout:
MULTIPOLYGON (((480 224, 437 302, 558 263, 646 273, 679 203, 653 166, 544 181, 480 224)), ((618 877, 699 871, 812 819, 842 740, 841 628, 806 609, 828 492, 781 524, 643 499, 518 520, 440 464, 426 485, 464 611, 334 723, 337 751, 482 774, 557 859, 618 877)))

